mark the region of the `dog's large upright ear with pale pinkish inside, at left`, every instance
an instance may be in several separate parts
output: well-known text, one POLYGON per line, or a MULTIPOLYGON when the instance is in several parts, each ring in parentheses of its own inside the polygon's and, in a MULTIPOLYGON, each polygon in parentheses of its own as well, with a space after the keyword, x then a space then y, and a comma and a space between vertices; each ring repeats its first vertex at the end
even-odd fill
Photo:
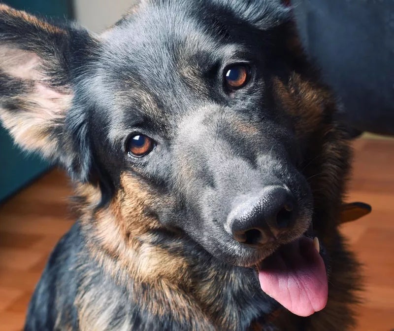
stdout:
POLYGON ((18 145, 82 181, 91 168, 87 115, 73 99, 76 73, 94 45, 82 29, 0 4, 0 120, 18 145))

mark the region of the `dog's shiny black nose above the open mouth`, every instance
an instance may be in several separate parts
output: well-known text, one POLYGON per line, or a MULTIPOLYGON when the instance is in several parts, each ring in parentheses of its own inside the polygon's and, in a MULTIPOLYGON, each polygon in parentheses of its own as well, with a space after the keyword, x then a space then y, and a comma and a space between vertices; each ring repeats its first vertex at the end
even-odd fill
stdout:
POLYGON ((228 218, 233 238, 248 246, 262 246, 287 232, 296 219, 296 201, 289 189, 267 186, 257 195, 235 202, 228 218))

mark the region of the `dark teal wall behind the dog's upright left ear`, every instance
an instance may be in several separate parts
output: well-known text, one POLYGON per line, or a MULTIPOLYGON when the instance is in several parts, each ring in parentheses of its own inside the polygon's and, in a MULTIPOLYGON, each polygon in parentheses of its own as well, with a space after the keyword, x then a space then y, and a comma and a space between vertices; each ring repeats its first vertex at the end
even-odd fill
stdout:
MULTIPOLYGON (((16 9, 57 19, 72 16, 69 0, 6 0, 1 2, 16 9)), ((0 126, 0 202, 48 169, 49 164, 38 155, 27 155, 15 147, 7 131, 0 126)))

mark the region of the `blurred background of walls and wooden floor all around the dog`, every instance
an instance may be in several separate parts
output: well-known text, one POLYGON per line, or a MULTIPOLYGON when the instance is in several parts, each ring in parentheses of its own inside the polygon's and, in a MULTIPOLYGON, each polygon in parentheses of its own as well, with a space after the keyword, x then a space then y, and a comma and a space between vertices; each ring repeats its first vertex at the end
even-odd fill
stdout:
MULTIPOLYGON (((236 1, 236 0, 234 0, 236 1)), ((6 0, 99 32, 135 0, 6 0)), ((342 227, 364 263, 360 331, 394 329, 394 1, 294 0, 305 49, 333 88, 354 137, 349 201, 373 212, 342 227)), ((0 127, 0 331, 21 330, 48 255, 73 216, 66 175, 14 147, 0 127)))

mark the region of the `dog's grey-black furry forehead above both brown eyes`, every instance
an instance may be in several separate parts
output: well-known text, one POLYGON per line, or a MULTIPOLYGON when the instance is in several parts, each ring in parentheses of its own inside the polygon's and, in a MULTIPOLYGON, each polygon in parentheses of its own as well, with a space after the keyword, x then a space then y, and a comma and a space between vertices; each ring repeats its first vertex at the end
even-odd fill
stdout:
MULTIPOLYGON (((242 13, 219 10, 220 1, 164 2, 138 8, 102 35, 96 100, 113 139, 149 118, 162 126, 155 130, 170 131, 188 112, 212 104, 212 67, 258 52, 260 29, 242 13)), ((265 2, 258 5, 264 13, 265 2)))

